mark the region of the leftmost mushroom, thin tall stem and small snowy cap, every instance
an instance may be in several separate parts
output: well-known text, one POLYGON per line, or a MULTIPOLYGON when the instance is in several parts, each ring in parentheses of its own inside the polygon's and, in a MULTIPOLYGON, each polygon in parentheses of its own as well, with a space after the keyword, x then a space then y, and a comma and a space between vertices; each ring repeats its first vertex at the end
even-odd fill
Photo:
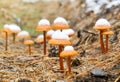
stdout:
POLYGON ((9 25, 5 24, 2 29, 5 32, 6 42, 5 42, 5 50, 8 50, 8 34, 10 33, 9 25))

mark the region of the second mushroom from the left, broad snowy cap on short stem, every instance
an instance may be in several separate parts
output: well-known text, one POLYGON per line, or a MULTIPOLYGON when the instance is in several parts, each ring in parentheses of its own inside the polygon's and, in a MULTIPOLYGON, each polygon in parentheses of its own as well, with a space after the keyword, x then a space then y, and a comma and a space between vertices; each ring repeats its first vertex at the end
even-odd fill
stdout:
POLYGON ((15 43, 15 39, 16 39, 16 34, 19 33, 21 31, 20 27, 16 24, 10 24, 10 31, 13 35, 13 43, 15 43))

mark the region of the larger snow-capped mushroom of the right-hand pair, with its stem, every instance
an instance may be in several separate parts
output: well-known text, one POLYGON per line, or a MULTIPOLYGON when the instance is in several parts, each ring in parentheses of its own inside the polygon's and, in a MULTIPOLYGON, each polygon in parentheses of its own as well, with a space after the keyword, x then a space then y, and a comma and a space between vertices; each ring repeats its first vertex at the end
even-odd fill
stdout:
POLYGON ((101 44, 102 53, 104 53, 105 48, 104 48, 102 32, 104 30, 111 28, 111 25, 106 19, 101 18, 101 19, 97 20, 97 22, 93 28, 100 31, 100 44, 101 44))

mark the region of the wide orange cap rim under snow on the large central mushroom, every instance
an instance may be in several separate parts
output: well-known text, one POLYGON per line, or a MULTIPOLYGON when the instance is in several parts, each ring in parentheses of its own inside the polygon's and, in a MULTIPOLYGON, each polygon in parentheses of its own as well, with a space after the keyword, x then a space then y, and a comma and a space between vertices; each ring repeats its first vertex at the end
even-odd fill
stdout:
POLYGON ((51 39, 48 42, 51 45, 71 45, 71 42, 69 40, 64 40, 64 39, 51 39))

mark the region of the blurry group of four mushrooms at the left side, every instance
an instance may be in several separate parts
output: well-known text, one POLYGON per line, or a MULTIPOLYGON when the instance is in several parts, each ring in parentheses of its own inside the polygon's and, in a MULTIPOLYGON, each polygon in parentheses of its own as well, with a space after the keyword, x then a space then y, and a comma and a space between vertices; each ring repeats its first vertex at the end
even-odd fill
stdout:
POLYGON ((34 42, 31 40, 27 40, 30 35, 27 31, 21 31, 21 28, 16 24, 5 24, 2 31, 5 33, 6 37, 6 46, 5 50, 8 50, 8 35, 12 34, 13 36, 13 43, 16 42, 16 37, 20 40, 22 39, 24 41, 24 44, 29 46, 29 54, 31 54, 31 44, 34 42))

